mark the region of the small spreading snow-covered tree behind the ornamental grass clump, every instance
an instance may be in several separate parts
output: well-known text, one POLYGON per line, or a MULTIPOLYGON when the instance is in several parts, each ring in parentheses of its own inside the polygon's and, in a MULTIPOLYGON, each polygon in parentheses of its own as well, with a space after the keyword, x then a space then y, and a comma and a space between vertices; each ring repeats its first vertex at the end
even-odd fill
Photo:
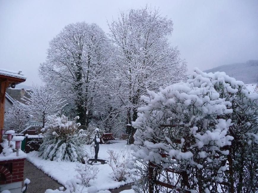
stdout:
POLYGON ((45 118, 48 115, 57 113, 66 105, 66 100, 60 98, 60 92, 49 86, 32 86, 31 92, 27 92, 28 97, 23 96, 24 103, 20 103, 22 109, 34 118, 42 121, 45 125, 45 118))

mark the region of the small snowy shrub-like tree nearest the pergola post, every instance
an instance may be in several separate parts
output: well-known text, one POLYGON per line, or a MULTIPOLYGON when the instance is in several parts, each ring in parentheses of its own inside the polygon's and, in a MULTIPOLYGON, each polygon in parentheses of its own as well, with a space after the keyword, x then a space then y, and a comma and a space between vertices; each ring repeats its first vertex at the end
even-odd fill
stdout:
POLYGON ((5 114, 7 128, 16 131, 16 133, 20 133, 29 125, 29 119, 30 115, 18 101, 15 101, 12 108, 5 114))

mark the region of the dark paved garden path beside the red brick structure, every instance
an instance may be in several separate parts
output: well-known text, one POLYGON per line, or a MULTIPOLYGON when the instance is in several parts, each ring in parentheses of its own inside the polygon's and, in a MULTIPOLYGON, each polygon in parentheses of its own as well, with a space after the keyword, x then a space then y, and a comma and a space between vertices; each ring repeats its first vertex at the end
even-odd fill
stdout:
POLYGON ((62 186, 27 160, 24 162, 24 179, 26 178, 31 181, 27 189, 30 193, 44 193, 46 189, 55 190, 62 186))

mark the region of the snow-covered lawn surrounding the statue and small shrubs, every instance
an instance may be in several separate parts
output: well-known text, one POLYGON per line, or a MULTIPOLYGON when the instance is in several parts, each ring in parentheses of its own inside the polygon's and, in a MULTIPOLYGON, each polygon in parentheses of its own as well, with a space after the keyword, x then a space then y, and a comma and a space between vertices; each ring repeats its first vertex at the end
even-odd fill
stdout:
MULTIPOLYGON (((103 160, 108 160, 109 155, 107 154, 108 149, 114 149, 115 151, 120 151, 123 148, 128 148, 125 140, 112 140, 110 142, 114 142, 112 144, 100 144, 99 148, 99 158, 103 160)), ((89 157, 93 158, 93 151, 90 151, 90 145, 85 145, 89 153, 89 157), (91 153, 92 152, 92 153, 91 153)), ((53 179, 57 180, 60 184, 65 186, 66 181, 76 178, 77 172, 74 168, 76 168, 76 164, 81 164, 79 162, 65 162, 65 161, 50 161, 43 160, 39 158, 37 152, 29 152, 27 154, 27 160, 33 163, 36 167, 41 169, 44 173, 51 176, 53 179)), ((112 173, 112 168, 108 164, 96 165, 100 169, 100 172, 97 175, 97 179, 91 180, 90 185, 96 186, 98 190, 107 190, 118 188, 122 185, 128 184, 132 181, 114 181, 110 177, 109 173, 112 173)), ((79 187, 80 189, 84 188, 83 186, 79 187)), ((87 191, 87 187, 83 189, 83 192, 87 191)), ((128 192, 129 193, 129 192, 128 192)))

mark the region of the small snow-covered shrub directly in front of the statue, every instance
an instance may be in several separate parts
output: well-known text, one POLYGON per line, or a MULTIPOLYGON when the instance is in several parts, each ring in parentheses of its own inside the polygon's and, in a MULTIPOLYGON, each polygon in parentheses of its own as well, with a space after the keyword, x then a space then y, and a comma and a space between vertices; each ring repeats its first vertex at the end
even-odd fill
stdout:
POLYGON ((91 179, 96 179, 99 172, 95 165, 88 163, 89 158, 84 157, 85 164, 77 164, 75 170, 79 173, 76 177, 80 180, 82 185, 88 186, 91 179))

